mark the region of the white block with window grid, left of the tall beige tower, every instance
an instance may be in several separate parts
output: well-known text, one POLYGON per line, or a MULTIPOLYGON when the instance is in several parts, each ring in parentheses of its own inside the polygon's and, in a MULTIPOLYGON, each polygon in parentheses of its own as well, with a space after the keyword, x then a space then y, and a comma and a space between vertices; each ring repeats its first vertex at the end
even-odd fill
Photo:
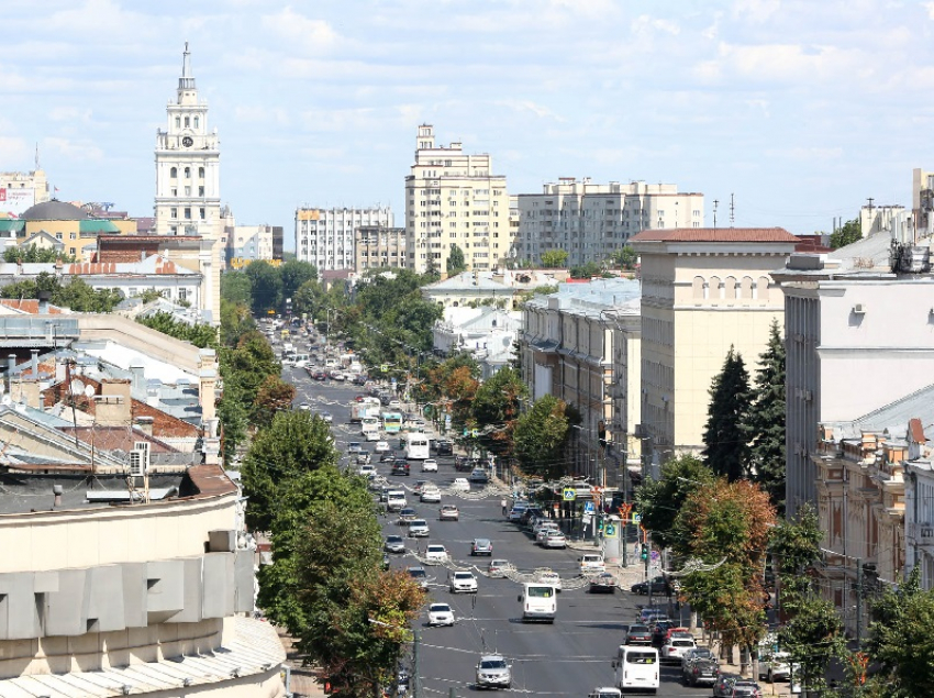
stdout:
POLYGON ((296 210, 296 258, 319 272, 356 269, 354 235, 358 228, 392 228, 389 207, 296 210))

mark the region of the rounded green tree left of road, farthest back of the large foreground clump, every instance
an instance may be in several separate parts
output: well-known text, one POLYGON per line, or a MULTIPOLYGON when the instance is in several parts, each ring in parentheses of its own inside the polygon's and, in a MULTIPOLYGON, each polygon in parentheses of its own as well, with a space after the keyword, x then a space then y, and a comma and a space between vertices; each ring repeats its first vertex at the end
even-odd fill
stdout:
POLYGON ((283 501, 283 487, 303 473, 335 466, 338 454, 331 429, 308 411, 280 411, 268 429, 260 430, 243 459, 241 474, 249 496, 246 523, 269 531, 283 501))

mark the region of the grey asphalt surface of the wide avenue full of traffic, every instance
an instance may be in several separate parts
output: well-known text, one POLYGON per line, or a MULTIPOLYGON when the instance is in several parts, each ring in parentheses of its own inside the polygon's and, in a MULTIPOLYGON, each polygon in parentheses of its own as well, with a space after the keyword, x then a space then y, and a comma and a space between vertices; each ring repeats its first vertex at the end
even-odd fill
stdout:
MULTIPOLYGON (((348 441, 360 441, 358 428, 348 424, 348 403, 360 390, 356 386, 316 383, 304 370, 286 369, 298 388, 296 403, 308 402, 312 411, 327 411, 333 416, 332 430, 338 448, 348 441)), ((389 440, 396 446, 394 439, 389 440)), ((367 448, 373 443, 365 443, 367 448)), ((437 483, 442 488, 455 476, 453 458, 437 458, 438 473, 422 474, 420 465, 412 463, 410 477, 388 478, 412 487, 419 479, 437 483)), ((348 463, 348 459, 344 461, 348 463)), ((388 476, 388 466, 373 459, 380 475, 388 476)), ((474 486, 476 487, 476 486, 474 486)), ((444 491, 444 490, 443 490, 444 491)), ((474 686, 475 666, 482 653, 499 653, 512 662, 512 688, 507 694, 538 696, 586 697, 597 686, 613 685, 611 662, 622 641, 622 625, 633 622, 637 603, 645 597, 629 591, 591 595, 586 587, 566 589, 558 595, 558 613, 554 624, 523 623, 521 605, 516 600, 520 587, 509 579, 490 579, 486 570, 488 558, 470 557, 470 541, 488 538, 493 544, 493 557, 509 559, 521 572, 531 573, 549 567, 572 584, 577 575, 576 550, 543 550, 534 545, 525 532, 507 522, 500 510, 501 495, 485 499, 467 499, 444 494, 442 503, 454 503, 460 510, 457 522, 437 520, 440 505, 422 505, 418 497, 408 497, 419 514, 431 528, 429 539, 408 543, 410 550, 424 550, 431 543, 443 543, 458 566, 476 565, 479 591, 475 595, 453 595, 447 588, 447 569, 427 567, 434 579, 430 591, 432 600, 451 603, 457 619, 453 628, 429 628, 423 616, 415 623, 419 636, 418 674, 421 695, 425 698, 469 696, 480 689, 474 686), (414 503, 412 503, 414 502, 414 503)), ((405 529, 393 523, 389 514, 383 520, 386 534, 401 533, 405 529)), ((392 565, 405 568, 419 565, 409 554, 392 556, 392 565)), ((659 696, 710 696, 710 688, 688 688, 680 683, 680 667, 663 666, 659 696)))

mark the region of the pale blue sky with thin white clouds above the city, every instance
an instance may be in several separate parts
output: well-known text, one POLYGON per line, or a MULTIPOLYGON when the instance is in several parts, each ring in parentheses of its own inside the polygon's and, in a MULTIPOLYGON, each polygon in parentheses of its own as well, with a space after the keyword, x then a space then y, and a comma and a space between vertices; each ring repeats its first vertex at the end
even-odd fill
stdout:
POLYGON ((705 225, 830 231, 934 169, 934 2, 0 0, 0 171, 152 215, 185 42, 237 223, 391 206, 421 123, 510 193, 676 184, 705 225))

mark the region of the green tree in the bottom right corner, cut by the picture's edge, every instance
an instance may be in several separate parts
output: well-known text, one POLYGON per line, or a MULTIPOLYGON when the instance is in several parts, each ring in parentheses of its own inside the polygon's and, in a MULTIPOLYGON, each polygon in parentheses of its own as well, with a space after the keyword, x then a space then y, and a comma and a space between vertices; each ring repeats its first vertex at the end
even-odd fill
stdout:
POLYGON ((881 671, 872 680, 892 698, 926 696, 934 686, 934 589, 921 588, 920 568, 886 586, 870 601, 872 618, 866 649, 881 671))

